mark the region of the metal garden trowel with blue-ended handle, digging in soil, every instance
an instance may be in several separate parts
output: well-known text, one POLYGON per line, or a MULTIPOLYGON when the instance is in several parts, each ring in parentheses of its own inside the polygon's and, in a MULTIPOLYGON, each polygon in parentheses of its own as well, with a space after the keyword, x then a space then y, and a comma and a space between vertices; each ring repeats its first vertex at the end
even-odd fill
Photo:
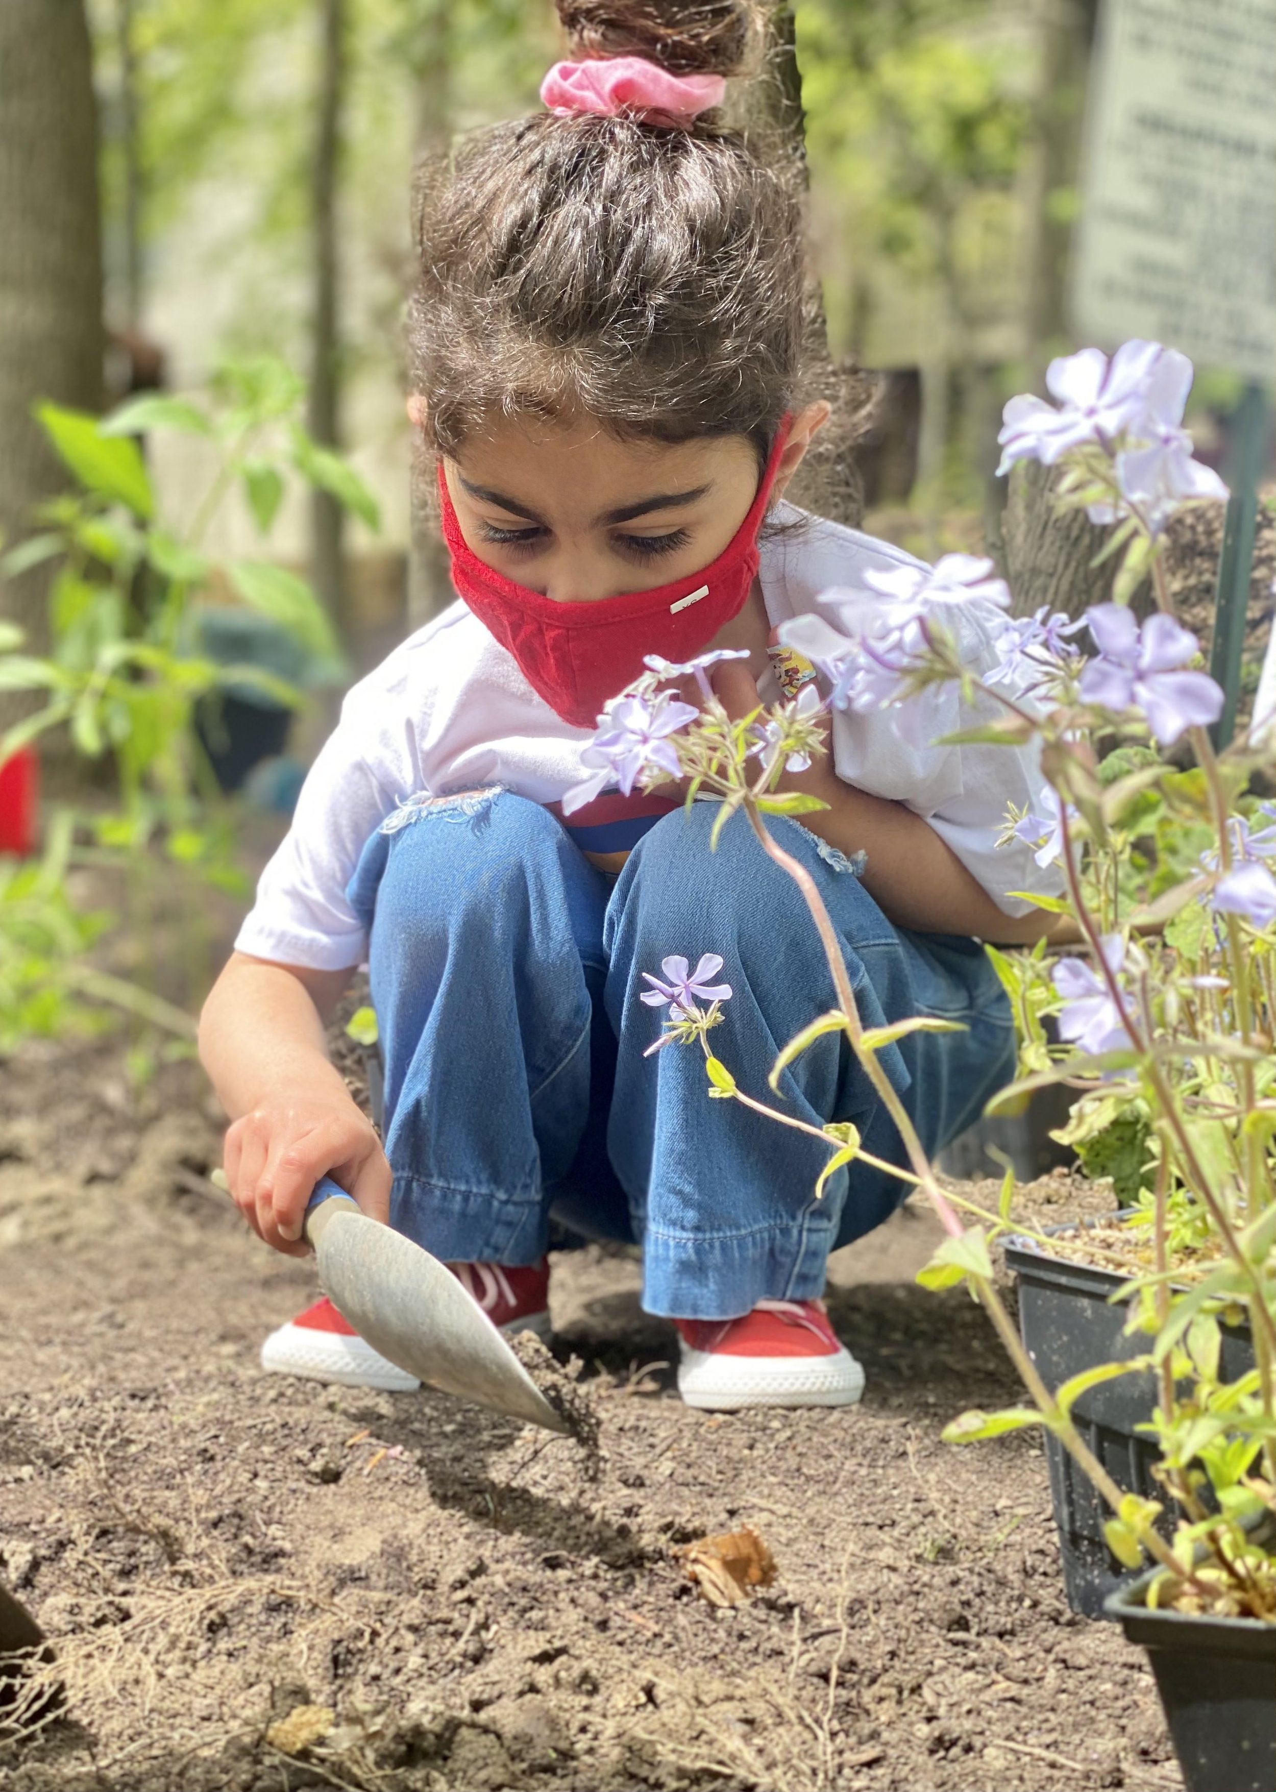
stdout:
POLYGON ((324 1176, 306 1238, 337 1312, 398 1369, 550 1432, 566 1432, 518 1357, 457 1278, 419 1244, 360 1213, 324 1176))

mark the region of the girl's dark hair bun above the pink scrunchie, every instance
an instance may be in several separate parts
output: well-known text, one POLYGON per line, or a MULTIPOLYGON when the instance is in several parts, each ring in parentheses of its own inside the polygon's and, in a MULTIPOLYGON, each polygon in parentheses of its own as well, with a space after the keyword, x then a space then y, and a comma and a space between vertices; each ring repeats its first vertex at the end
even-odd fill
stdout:
POLYGON ((556 0, 577 56, 645 56, 672 75, 738 75, 760 41, 756 0, 556 0))

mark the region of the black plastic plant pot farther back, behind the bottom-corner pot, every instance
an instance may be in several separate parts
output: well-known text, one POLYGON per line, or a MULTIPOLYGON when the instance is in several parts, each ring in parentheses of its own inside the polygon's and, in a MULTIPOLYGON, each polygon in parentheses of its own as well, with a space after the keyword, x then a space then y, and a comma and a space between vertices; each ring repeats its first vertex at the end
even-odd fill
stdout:
MULTIPOLYGON (((1059 1247, 1066 1249, 1066 1233, 1059 1247)), ((1050 1256, 1027 1238, 1005 1242, 1005 1263, 1018 1278, 1023 1346, 1052 1391, 1102 1362, 1127 1362, 1147 1351, 1145 1335, 1125 1337, 1127 1306, 1111 1305, 1124 1276, 1050 1256)), ((1224 1326, 1222 1378, 1235 1382, 1253 1366, 1254 1346, 1247 1328, 1224 1326)), ((1122 1374, 1084 1392, 1072 1409, 1072 1421, 1122 1493, 1163 1500, 1165 1493, 1152 1477, 1156 1444, 1138 1432, 1154 1405, 1152 1374, 1122 1374)), ((1104 1541, 1104 1521, 1111 1512, 1057 1437, 1047 1435, 1045 1455, 1068 1604, 1086 1618, 1102 1618, 1108 1595, 1131 1582, 1131 1573, 1104 1541)), ((1167 1529, 1172 1529, 1168 1512, 1167 1529)), ((1267 1792, 1272 1788, 1276 1779, 1267 1792)))

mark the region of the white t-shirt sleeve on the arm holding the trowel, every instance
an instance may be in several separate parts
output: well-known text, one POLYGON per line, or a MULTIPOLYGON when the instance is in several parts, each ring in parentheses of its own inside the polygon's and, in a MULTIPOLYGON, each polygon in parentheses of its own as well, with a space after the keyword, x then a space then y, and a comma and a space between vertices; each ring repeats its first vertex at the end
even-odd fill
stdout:
POLYGON ((256 885, 237 952, 315 971, 344 971, 367 955, 367 935, 346 885, 375 828, 416 788, 394 776, 394 756, 373 724, 360 688, 310 767, 283 844, 256 885), (380 747, 375 767, 362 747, 380 747))

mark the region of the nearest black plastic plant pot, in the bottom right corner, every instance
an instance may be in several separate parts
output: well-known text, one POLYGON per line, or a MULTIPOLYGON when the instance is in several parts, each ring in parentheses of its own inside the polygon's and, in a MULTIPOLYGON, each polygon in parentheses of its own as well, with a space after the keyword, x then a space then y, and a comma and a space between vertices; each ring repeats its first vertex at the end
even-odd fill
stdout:
POLYGON ((1272 1792, 1276 1624, 1149 1611, 1154 1579, 1109 1593, 1104 1613, 1147 1650, 1186 1792, 1272 1792))

